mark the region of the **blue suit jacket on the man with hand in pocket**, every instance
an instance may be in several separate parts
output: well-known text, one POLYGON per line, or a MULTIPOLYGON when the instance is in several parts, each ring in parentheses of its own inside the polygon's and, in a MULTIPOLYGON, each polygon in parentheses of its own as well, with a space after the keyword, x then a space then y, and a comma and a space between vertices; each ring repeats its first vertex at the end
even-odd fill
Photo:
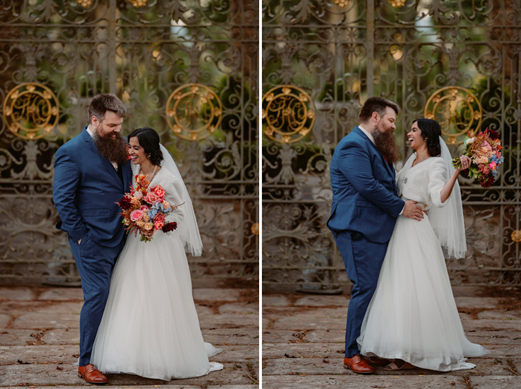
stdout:
POLYGON ((56 152, 53 200, 61 222, 56 228, 73 241, 87 234, 101 246, 121 243, 125 231, 115 202, 130 190, 130 163, 123 165, 123 183, 116 169, 102 158, 85 127, 56 152))

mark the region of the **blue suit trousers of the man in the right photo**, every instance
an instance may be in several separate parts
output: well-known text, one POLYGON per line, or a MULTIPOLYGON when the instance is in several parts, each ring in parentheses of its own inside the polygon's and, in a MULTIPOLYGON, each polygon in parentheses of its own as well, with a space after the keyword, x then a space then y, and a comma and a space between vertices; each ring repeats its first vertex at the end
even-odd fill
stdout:
POLYGON ((353 283, 346 324, 346 357, 359 354, 356 338, 360 336, 363 318, 376 290, 387 245, 367 241, 361 233, 352 231, 333 232, 335 241, 353 283))

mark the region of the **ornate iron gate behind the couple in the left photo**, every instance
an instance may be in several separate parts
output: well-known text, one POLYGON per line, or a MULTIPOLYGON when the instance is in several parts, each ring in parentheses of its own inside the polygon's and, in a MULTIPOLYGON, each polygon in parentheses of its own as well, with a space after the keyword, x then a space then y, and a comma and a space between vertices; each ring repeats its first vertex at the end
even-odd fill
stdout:
POLYGON ((257 276, 256 1, 12 0, 0 23, 0 283, 78 281, 52 160, 102 92, 128 106, 123 134, 155 128, 178 162, 194 276, 257 276))

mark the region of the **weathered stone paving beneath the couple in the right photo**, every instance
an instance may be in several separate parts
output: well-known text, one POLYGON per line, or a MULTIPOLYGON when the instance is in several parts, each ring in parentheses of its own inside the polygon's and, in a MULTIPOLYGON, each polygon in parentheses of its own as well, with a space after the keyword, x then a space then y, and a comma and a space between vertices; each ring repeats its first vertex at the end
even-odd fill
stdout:
POLYGON ((459 315, 471 342, 492 351, 472 370, 402 370, 356 375, 343 368, 348 296, 263 296, 263 388, 521 388, 521 294, 514 288, 457 287, 459 315), (518 373, 519 369, 519 373, 518 373))

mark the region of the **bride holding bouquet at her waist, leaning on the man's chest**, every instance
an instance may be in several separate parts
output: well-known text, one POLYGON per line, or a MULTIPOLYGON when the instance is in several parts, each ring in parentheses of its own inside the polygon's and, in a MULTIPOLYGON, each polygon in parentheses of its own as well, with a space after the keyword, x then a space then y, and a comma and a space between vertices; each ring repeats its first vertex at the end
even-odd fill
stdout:
POLYGON ((156 231, 149 242, 128 235, 112 272, 90 363, 104 373, 165 381, 221 370, 222 364, 208 362, 221 350, 203 341, 193 303, 184 251, 201 255, 202 241, 189 193, 155 130, 138 128, 128 141, 134 175, 145 176, 150 186, 160 184, 169 204, 184 204, 165 220, 177 222, 177 230, 156 231))

